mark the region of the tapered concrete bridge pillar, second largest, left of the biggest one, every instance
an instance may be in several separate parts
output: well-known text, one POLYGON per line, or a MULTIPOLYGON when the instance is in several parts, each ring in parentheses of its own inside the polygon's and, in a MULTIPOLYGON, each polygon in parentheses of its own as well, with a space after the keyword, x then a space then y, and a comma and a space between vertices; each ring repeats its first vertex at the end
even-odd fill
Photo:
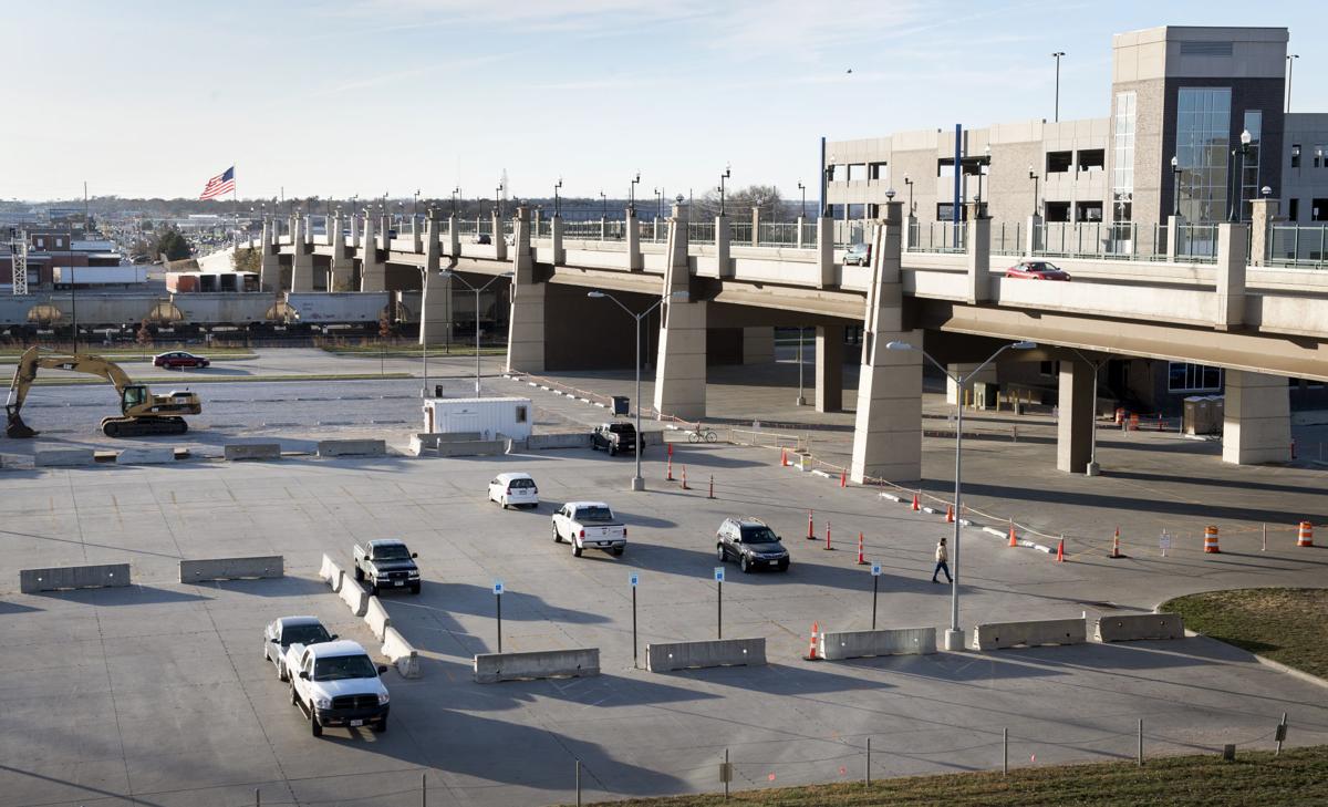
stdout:
MULTIPOLYGON (((687 236, 687 212, 681 204, 675 204, 668 222, 665 297, 675 292, 691 292, 687 236)), ((665 300, 661 307, 659 356, 655 361, 657 414, 697 421, 705 417, 705 316, 706 304, 692 299, 665 300)))

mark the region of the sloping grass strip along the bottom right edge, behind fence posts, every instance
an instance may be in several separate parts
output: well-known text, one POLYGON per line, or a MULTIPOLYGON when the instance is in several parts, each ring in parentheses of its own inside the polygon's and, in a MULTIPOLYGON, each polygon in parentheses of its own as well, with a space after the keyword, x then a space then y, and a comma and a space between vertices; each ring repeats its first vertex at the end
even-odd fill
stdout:
MULTIPOLYGON (((716 775, 718 772, 718 765, 716 775)), ((718 787, 718 786, 716 786, 718 787)), ((1293 749, 1274 758, 1270 751, 1242 751, 1235 762, 1218 753, 1133 762, 1104 762, 1000 772, 908 776, 872 782, 784 787, 722 794, 604 802, 619 807, 874 807, 886 804, 944 804, 979 807, 1020 804, 1093 804, 1143 807, 1202 804, 1248 807, 1328 803, 1328 746, 1293 749)))

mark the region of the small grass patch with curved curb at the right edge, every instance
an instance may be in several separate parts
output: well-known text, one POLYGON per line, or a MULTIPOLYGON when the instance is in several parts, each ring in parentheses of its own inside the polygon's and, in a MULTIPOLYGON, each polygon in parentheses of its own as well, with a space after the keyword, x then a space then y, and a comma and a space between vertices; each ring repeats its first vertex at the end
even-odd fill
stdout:
POLYGON ((1182 615, 1191 630, 1328 677, 1328 588, 1211 591, 1163 603, 1162 611, 1182 615))

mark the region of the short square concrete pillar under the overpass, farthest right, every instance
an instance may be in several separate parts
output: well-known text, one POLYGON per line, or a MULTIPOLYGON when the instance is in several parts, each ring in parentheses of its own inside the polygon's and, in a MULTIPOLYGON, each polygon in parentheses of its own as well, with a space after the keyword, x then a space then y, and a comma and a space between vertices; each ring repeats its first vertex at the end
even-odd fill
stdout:
POLYGON ((1280 376, 1226 370, 1222 461, 1291 461, 1291 397, 1280 376))

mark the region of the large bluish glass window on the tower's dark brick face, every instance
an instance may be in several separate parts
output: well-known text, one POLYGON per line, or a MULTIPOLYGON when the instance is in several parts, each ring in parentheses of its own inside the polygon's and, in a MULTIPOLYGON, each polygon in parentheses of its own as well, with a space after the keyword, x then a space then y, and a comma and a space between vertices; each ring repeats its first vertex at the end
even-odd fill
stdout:
POLYGON ((1190 223, 1223 222, 1230 181, 1231 88, 1183 86, 1177 100, 1181 215, 1190 223))

